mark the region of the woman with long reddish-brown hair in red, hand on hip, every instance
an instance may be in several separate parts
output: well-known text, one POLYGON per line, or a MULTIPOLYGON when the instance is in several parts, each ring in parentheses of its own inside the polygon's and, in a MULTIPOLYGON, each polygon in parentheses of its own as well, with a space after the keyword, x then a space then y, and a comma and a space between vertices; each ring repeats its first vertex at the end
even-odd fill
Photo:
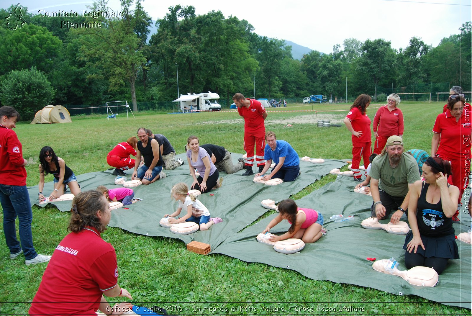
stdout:
POLYGON ((369 166, 369 156, 372 153, 371 145, 371 119, 366 114, 366 110, 371 104, 371 97, 367 94, 361 94, 355 99, 351 106, 351 111, 347 113, 344 119, 346 128, 352 134, 353 142, 353 164, 354 181, 361 182, 361 171, 359 165, 361 157, 364 159, 364 168, 369 166))

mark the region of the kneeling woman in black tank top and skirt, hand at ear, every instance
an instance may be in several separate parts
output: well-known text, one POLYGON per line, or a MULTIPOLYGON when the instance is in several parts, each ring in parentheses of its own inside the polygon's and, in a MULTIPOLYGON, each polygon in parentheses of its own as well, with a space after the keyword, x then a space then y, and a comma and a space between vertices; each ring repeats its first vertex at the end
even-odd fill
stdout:
POLYGON ((452 172, 447 160, 429 157, 421 169, 423 180, 413 183, 408 204, 405 265, 432 267, 441 274, 449 259, 459 259, 451 219, 459 189, 447 184, 452 172))

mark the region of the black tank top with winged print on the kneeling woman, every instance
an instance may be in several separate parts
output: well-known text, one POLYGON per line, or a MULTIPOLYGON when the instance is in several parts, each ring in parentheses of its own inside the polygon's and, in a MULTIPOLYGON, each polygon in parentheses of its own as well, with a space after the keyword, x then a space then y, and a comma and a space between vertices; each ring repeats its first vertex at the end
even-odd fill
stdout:
POLYGON ((416 212, 416 221, 421 235, 427 237, 444 237, 454 234, 452 227, 452 218, 446 217, 443 212, 441 199, 437 204, 426 202, 426 192, 429 184, 423 182, 421 195, 418 199, 418 211, 416 212))

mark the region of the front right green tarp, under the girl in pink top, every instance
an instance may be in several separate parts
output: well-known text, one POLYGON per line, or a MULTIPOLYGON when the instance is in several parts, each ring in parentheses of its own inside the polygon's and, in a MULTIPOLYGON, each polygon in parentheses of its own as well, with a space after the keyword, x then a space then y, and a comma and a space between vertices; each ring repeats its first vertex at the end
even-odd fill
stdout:
MULTIPOLYGON (((372 269, 367 257, 377 259, 396 258, 399 269, 405 270, 403 244, 405 236, 383 230, 368 230, 361 226, 370 216, 371 196, 352 192, 352 178, 338 176, 335 182, 296 201, 300 207, 313 208, 323 214, 328 233, 312 244, 306 244, 300 253, 284 255, 271 246, 257 242, 256 236, 265 229, 276 214, 229 237, 211 253, 231 256, 246 262, 292 269, 313 280, 329 280, 337 283, 356 284, 386 291, 396 295, 414 294, 425 299, 471 308, 471 245, 457 241, 461 259, 449 260, 446 270, 439 276, 434 288, 410 285, 402 278, 379 273, 372 269), (352 222, 333 222, 333 214, 354 215, 352 222)), ((388 222, 387 220, 381 222, 388 222)), ((463 215, 461 224, 454 224, 456 234, 470 228, 469 215, 463 215)), ((287 221, 274 227, 272 233, 288 230, 287 221)))

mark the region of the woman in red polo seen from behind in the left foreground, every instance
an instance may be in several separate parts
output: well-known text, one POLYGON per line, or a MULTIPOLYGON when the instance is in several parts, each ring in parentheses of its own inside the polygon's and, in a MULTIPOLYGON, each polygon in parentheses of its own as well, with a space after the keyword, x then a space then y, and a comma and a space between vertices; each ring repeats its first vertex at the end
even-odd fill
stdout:
POLYGON ((124 302, 110 307, 108 297, 129 292, 118 285, 115 248, 101 238, 110 222, 110 204, 98 191, 85 191, 72 200, 70 233, 52 254, 29 310, 34 315, 121 315, 133 307, 124 302))

